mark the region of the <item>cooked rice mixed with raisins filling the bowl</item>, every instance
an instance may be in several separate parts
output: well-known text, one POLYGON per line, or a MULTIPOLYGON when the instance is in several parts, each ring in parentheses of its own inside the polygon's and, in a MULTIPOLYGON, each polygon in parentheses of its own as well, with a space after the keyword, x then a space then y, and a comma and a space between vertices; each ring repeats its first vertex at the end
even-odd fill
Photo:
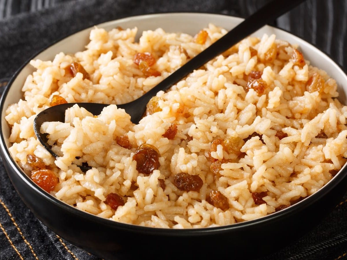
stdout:
POLYGON ((159 92, 137 125, 116 105, 98 116, 73 106, 64 123, 42 125, 54 159, 35 138, 37 113, 64 99, 132 101, 226 33, 156 29, 137 43, 136 32, 94 28, 85 51, 31 61, 25 99, 6 111, 10 152, 29 176, 44 164, 59 178, 53 196, 124 223, 209 227, 286 208, 345 164, 347 107, 335 80, 274 35, 249 37, 159 92))

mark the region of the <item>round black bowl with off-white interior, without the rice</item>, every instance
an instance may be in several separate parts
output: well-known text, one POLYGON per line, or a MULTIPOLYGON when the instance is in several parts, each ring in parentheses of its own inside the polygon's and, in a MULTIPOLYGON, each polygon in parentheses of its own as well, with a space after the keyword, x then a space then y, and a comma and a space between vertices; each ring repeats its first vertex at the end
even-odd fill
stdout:
MULTIPOLYGON (((165 17, 163 15, 139 16, 111 22, 111 25, 107 23, 106 25, 127 27, 133 26, 129 24, 130 22, 138 23, 141 21, 145 24, 144 26, 147 26, 146 23, 150 21, 152 24, 149 23, 149 27, 155 28, 157 24, 164 23, 160 23, 160 21, 164 21, 163 19, 168 23, 172 21, 186 23, 188 17, 194 17, 197 24, 193 24, 193 27, 200 28, 202 21, 205 20, 222 26, 223 23, 229 21, 231 22, 229 27, 233 26, 232 23, 235 25, 240 21, 239 18, 222 15, 187 13, 170 15, 165 17), (172 16, 171 21, 168 17, 170 15, 172 16), (153 21, 158 21, 158 23, 153 21)), ((323 65, 323 67, 326 67, 323 69, 328 72, 328 67, 332 66, 331 64, 337 67, 336 63, 312 45, 279 29, 272 27, 266 27, 265 29, 269 30, 269 28, 282 34, 282 37, 290 38, 292 42, 306 44, 308 47, 305 48, 308 49, 304 53, 307 54, 311 50, 315 54, 314 57, 316 58, 311 55, 314 59, 317 59, 316 55, 318 55, 319 60, 322 61, 323 59, 327 63, 323 65)), ((84 33, 85 35, 86 33, 84 33)), ((76 37, 76 35, 70 36, 64 41, 71 41, 71 37, 76 37)), ((53 45, 46 49, 46 52, 52 51, 56 47, 57 45, 53 45)), ((47 54, 45 57, 47 57, 47 54)), ((333 69, 336 69, 336 67, 333 69)), ((188 255, 190 257, 200 256, 203 259, 207 256, 215 257, 216 255, 228 255, 231 258, 243 256, 247 259, 259 257, 297 240, 335 208, 346 192, 347 171, 344 166, 322 189, 295 205, 256 220, 233 225, 200 229, 161 229, 118 223, 94 216, 73 208, 43 191, 31 181, 9 154, 9 129, 4 119, 4 111, 9 103, 16 102, 21 97, 22 94, 20 93, 14 97, 14 90, 11 89, 19 89, 18 83, 23 83, 23 79, 28 73, 30 71, 27 63, 25 63, 10 80, 1 99, 2 131, 0 148, 3 163, 19 196, 37 218, 70 243, 99 257, 105 259, 120 257, 124 259, 133 257, 143 257, 145 259, 148 257, 160 259, 181 257, 185 259, 188 255)), ((335 74, 335 78, 338 77, 340 83, 342 81, 347 82, 347 77, 341 69, 336 73, 339 73, 335 74)), ((330 74, 334 77, 333 73, 330 74)), ((343 89, 339 91, 344 93, 343 89)), ((341 99, 345 99, 344 96, 341 99)))

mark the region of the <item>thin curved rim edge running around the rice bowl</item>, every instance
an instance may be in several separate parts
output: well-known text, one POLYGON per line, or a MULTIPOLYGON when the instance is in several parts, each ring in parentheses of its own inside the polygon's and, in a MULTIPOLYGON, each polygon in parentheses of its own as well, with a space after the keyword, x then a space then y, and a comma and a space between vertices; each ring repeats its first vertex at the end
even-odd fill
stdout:
MULTIPOLYGON (((167 13, 159 13, 159 14, 149 14, 149 15, 140 15, 140 16, 133 16, 133 17, 126 17, 126 18, 121 18, 118 20, 111 20, 105 23, 101 23, 97 26, 104 26, 106 24, 109 23, 113 23, 115 21, 119 22, 119 21, 126 21, 128 19, 141 19, 142 17, 153 17, 153 16, 161 16, 167 13)), ((170 13, 171 15, 181 15, 181 14, 186 14, 186 15, 216 15, 216 16, 227 16, 227 15, 222 15, 222 14, 212 14, 212 13, 191 13, 191 12, 172 12, 170 13)), ((240 21, 242 21, 242 18, 238 18, 238 17, 234 17, 239 19, 240 21)), ((11 79, 9 80, 6 89, 4 90, 1 100, 0 100, 0 111, 4 110, 4 102, 5 99, 7 97, 8 94, 8 90, 11 87, 13 81, 15 80, 15 78, 18 76, 18 74, 20 73, 20 71, 23 70, 23 68, 29 63, 30 60, 32 60, 33 58, 35 58, 38 54, 40 54, 42 51, 44 51, 45 49, 47 49, 48 47, 60 42, 61 40, 73 36, 74 34, 77 34, 79 32, 82 32, 84 30, 89 30, 92 27, 87 27, 85 29, 82 29, 78 32, 72 33, 70 35, 61 37, 55 41, 53 41, 51 44, 49 44, 48 46, 45 46, 43 49, 41 49, 40 51, 38 51, 37 53, 35 53, 34 55, 32 55, 16 72, 15 74, 11 77, 11 79)), ((276 28, 276 27, 274 27, 276 28)), ((283 29, 280 28, 276 28, 279 29, 283 32, 289 33, 283 29)), ((342 67, 340 66, 339 63, 337 63, 336 61, 334 61, 329 54, 319 50, 314 44, 308 43, 306 41, 304 41, 302 38, 289 33, 290 35, 297 37, 298 40, 303 41, 311 46, 313 46, 316 51, 323 53, 327 59, 330 59, 331 61, 333 61, 333 63, 335 63, 338 66, 338 69, 345 75, 346 73, 344 72, 344 70, 342 69, 342 67)), ((347 81, 347 76, 346 77, 346 81, 347 81)), ((0 128, 2 129, 2 122, 0 120, 0 128)), ((279 211, 278 213, 274 213, 268 216, 264 216, 262 218, 259 219, 255 219, 255 220, 249 220, 246 222, 242 222, 242 223, 236 223, 236 224, 232 224, 232 225, 227 225, 227 226, 221 226, 221 227, 209 227, 209 228, 198 228, 198 229, 164 229, 164 228, 151 228, 151 227, 143 227, 143 226, 137 226, 137 225, 131 225, 131 224, 124 224, 124 223, 119 223, 119 222, 115 222, 113 220, 109 220, 109 219, 105 219, 105 218, 101 218, 101 217, 97 217, 95 215, 92 215, 90 213, 86 213, 84 211, 81 211, 77 208, 74 208, 60 200, 58 200, 57 198, 53 197, 52 195, 50 195, 49 193, 43 191, 41 188, 39 188, 36 184, 34 184, 31 179, 19 168, 19 166, 17 165, 17 163, 14 161, 14 159, 10 156, 10 153, 7 149, 7 145, 6 145, 6 141, 1 133, 1 142, 0 142, 0 148, 2 150, 2 154, 4 156, 4 159, 6 159, 9 164, 11 165, 12 168, 14 168, 16 170, 16 173, 21 177, 21 179, 23 180, 23 182, 25 182, 27 185, 29 185, 33 190, 35 190, 36 192, 40 193, 41 196, 43 196, 46 200, 49 200, 51 202, 53 202, 56 206, 69 211, 70 213, 74 213, 80 217, 83 218, 88 218, 93 220, 94 222, 107 222, 109 225, 115 225, 117 226, 117 228, 120 229, 128 229, 130 227, 134 227, 136 226, 137 230, 139 232, 145 232, 145 233, 151 233, 151 234, 158 234, 158 233, 162 233, 164 235, 170 235, 170 236, 180 236, 180 235, 196 235, 196 236, 200 236, 202 234, 211 234, 211 233, 219 233, 219 232, 227 232, 231 229, 236 229, 236 228, 241 228, 241 227, 246 227, 246 226, 253 226, 254 224, 257 223, 262 223, 262 222, 271 222, 274 219, 278 219, 280 218, 282 215, 291 215, 293 213, 293 211, 297 211, 300 210, 302 208, 305 208, 307 205, 310 205, 311 203, 313 203, 314 201, 317 201, 319 199, 321 199, 325 193, 328 193, 329 191, 331 191, 342 179, 344 179, 347 176, 347 171, 346 171, 346 165, 344 167, 341 168, 341 170, 339 171, 338 174, 336 174, 336 176, 333 177, 332 180, 330 180, 327 184, 324 185, 324 187, 322 187, 319 191, 317 191, 316 193, 312 194, 311 196, 305 198, 304 200, 298 202, 297 204, 288 207, 284 210, 279 211)))

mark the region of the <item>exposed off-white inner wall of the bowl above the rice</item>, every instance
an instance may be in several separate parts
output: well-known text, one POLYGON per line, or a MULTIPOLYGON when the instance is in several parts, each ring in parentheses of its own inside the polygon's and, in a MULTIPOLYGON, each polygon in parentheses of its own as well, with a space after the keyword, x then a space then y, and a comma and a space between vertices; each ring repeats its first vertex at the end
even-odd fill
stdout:
MULTIPOLYGON (((217 26, 224 27, 228 30, 235 27, 243 19, 215 15, 215 14, 201 14, 201 13, 172 13, 172 14, 154 14, 154 15, 143 15, 136 17, 128 17, 120 20, 110 21, 97 25, 99 28, 104 28, 110 30, 117 26, 123 28, 138 28, 138 35, 141 35, 142 31, 154 30, 158 27, 164 29, 167 32, 182 32, 194 35, 201 28, 206 27, 208 23, 213 23, 217 26)), ((65 53, 75 53, 77 51, 84 50, 85 45, 88 43, 89 33, 92 28, 85 29, 81 32, 73 34, 64 40, 50 46, 45 49, 34 59, 41 60, 53 60, 54 56, 59 52, 65 53)), ((285 31, 282 31, 271 26, 265 26, 256 33, 255 36, 261 37, 264 33, 266 34, 276 34, 277 38, 286 40, 291 44, 298 44, 301 51, 304 54, 305 59, 310 60, 311 64, 327 71, 327 73, 337 81, 338 92, 340 94, 340 101, 346 104, 347 100, 347 76, 339 68, 339 66, 333 62, 327 55, 318 50, 316 47, 305 42, 304 40, 291 35, 285 31)), ((57 35, 59 37, 59 35, 57 35)), ((31 74, 34 69, 27 64, 22 71, 18 74, 13 84, 11 85, 9 92, 7 94, 6 100, 4 102, 4 108, 6 109, 8 105, 12 103, 17 103, 20 98, 22 98, 23 93, 21 91, 26 77, 31 74)), ((5 120, 5 110, 1 114, 2 132, 3 138, 5 138, 6 145, 9 147, 8 138, 10 135, 10 129, 5 120)))

